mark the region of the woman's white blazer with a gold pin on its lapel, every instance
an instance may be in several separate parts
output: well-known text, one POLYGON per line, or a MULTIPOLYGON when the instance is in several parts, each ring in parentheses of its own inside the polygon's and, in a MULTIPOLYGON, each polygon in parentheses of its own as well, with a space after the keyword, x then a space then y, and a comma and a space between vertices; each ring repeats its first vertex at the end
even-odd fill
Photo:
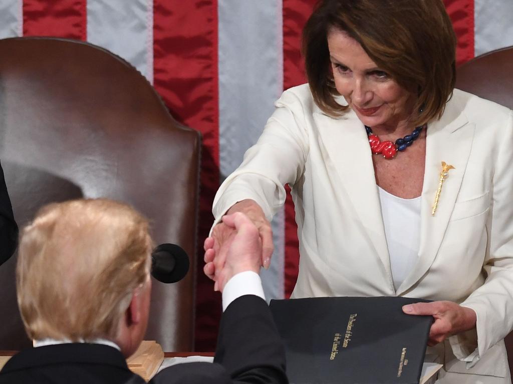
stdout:
POLYGON ((512 112, 455 90, 442 118, 428 124, 419 257, 396 290, 363 123, 352 111, 340 118, 324 114, 307 84, 285 91, 275 106, 257 144, 220 187, 216 220, 243 199, 257 201, 271 219, 288 183, 301 255, 292 297, 397 295, 460 303, 477 313, 478 341, 471 331, 439 345, 443 374, 510 382, 502 339, 513 328, 512 112), (431 216, 442 161, 455 169, 431 216))

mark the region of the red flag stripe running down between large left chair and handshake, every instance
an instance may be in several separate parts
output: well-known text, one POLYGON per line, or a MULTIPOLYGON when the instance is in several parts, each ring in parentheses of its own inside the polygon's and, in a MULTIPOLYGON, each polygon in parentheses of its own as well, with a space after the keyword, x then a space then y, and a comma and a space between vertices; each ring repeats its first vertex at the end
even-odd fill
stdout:
POLYGON ((213 222, 219 188, 218 4, 159 0, 153 7, 153 77, 180 122, 203 136, 196 290, 196 346, 213 351, 221 316, 221 296, 203 274, 203 241, 213 222))

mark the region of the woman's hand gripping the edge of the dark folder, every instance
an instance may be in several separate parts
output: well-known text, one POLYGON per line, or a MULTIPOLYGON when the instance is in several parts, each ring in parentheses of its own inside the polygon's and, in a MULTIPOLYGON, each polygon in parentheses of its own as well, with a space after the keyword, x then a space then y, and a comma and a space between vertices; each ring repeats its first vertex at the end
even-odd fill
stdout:
POLYGON ((456 333, 476 327, 476 312, 453 302, 438 301, 415 303, 403 306, 409 315, 431 315, 435 323, 431 325, 427 345, 432 347, 456 333))

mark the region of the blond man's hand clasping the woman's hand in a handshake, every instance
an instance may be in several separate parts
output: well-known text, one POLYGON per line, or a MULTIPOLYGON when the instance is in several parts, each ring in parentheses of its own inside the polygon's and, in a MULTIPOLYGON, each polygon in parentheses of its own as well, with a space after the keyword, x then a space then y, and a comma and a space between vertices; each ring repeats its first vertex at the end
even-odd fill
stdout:
POLYGON ((213 275, 214 290, 220 291, 239 272, 259 273, 262 263, 262 240, 251 220, 241 212, 223 216, 222 220, 227 230, 205 240, 203 268, 206 275, 213 275))

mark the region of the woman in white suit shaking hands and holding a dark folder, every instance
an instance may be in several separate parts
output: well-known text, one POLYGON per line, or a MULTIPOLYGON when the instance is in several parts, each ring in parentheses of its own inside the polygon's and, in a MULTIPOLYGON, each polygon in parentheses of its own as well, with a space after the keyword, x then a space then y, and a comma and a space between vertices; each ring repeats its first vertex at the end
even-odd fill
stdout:
MULTIPOLYGON (((403 310, 435 318, 439 382, 510 383, 513 118, 453 89, 455 46, 441 0, 321 1, 303 33, 309 83, 275 103, 213 213, 245 212, 267 266, 289 184, 301 255, 292 297, 433 300, 403 310)), ((213 236, 229 230, 218 223, 213 236)))

